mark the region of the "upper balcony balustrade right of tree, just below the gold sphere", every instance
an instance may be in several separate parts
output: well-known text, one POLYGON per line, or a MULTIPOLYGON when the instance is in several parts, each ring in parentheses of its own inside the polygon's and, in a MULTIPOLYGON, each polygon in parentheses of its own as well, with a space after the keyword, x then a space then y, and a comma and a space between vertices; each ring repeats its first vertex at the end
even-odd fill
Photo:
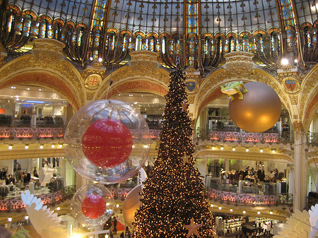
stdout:
POLYGON ((293 131, 248 133, 240 131, 208 131, 197 130, 196 138, 210 139, 211 141, 237 141, 253 143, 293 143, 293 131))

